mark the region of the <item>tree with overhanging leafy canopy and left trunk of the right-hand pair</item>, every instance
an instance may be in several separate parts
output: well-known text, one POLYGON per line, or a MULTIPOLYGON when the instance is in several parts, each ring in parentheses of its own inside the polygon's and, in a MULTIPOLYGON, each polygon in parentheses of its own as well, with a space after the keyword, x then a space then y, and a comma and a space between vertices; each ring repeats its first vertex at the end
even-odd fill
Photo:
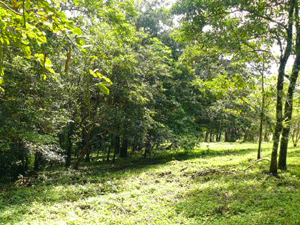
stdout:
POLYGON ((261 43, 269 46, 276 43, 280 46, 276 127, 270 164, 270 172, 274 175, 277 174, 277 151, 283 122, 284 74, 293 46, 295 5, 293 0, 288 3, 271 0, 195 0, 178 2, 175 7, 175 12, 185 13, 181 32, 186 37, 196 39, 198 44, 204 43, 204 47, 213 45, 230 55, 244 56, 260 49, 261 43))

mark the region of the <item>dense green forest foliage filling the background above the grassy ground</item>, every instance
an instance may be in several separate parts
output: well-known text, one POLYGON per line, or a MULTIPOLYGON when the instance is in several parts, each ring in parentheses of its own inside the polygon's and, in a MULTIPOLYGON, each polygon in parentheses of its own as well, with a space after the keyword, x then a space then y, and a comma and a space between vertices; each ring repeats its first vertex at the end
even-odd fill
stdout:
MULTIPOLYGON (((83 160, 256 141, 259 130, 269 140, 271 50, 280 46, 281 76, 298 46, 289 33, 297 18, 295 1, 0 1, 1 181, 56 163, 78 169, 83 160)), ((290 127, 297 63, 285 117, 277 82, 279 132, 283 121, 290 127)))

